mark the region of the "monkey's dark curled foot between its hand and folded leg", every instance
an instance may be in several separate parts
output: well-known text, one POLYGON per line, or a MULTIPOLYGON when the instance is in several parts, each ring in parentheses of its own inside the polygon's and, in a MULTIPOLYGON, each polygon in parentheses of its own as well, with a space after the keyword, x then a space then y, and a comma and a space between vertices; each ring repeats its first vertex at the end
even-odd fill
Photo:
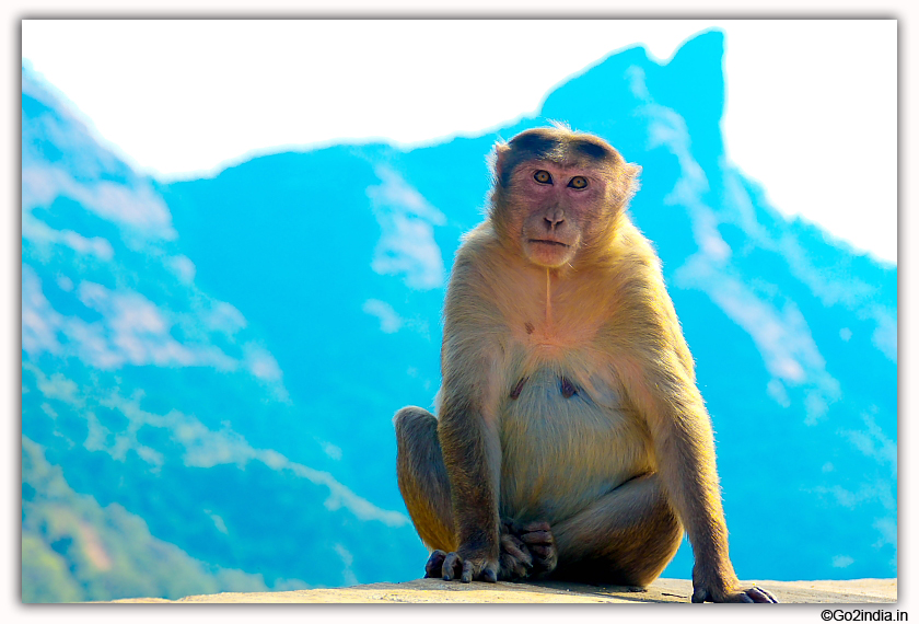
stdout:
POLYGON ((558 556, 548 522, 531 522, 521 527, 512 520, 501 521, 499 578, 522 580, 552 571, 558 556))

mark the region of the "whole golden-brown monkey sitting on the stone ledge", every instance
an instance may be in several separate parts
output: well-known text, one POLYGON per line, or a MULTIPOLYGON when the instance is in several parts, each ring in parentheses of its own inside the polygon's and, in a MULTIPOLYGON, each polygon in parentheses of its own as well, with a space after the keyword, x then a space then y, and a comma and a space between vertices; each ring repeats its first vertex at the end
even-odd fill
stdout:
POLYGON ((729 558, 711 419, 627 211, 641 167, 562 125, 499 141, 490 166, 447 284, 438 416, 394 418, 426 577, 641 588, 685 530, 693 602, 777 602, 729 558))

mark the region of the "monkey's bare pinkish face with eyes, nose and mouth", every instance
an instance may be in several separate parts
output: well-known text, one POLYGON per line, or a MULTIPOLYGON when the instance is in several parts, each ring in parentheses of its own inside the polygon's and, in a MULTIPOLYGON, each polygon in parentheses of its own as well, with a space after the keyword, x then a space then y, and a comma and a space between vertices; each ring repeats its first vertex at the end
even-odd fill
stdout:
POLYGON ((534 160, 511 177, 509 217, 523 255, 558 268, 574 259, 603 213, 606 181, 590 166, 566 166, 534 160))

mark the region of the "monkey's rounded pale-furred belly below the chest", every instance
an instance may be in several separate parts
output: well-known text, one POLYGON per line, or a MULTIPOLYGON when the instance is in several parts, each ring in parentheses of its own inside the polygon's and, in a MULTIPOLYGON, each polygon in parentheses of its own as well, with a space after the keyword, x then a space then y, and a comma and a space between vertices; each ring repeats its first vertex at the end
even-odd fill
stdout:
POLYGON ((613 389, 543 369, 512 393, 501 414, 502 517, 556 523, 652 470, 647 429, 613 389))

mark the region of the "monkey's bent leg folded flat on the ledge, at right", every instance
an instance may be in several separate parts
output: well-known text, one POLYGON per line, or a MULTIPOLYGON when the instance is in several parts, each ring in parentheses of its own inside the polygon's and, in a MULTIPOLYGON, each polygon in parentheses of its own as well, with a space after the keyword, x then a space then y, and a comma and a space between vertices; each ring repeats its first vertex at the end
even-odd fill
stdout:
POLYGON ((683 539, 655 474, 624 483, 551 531, 558 548, 551 578, 594 585, 649 585, 683 539))

